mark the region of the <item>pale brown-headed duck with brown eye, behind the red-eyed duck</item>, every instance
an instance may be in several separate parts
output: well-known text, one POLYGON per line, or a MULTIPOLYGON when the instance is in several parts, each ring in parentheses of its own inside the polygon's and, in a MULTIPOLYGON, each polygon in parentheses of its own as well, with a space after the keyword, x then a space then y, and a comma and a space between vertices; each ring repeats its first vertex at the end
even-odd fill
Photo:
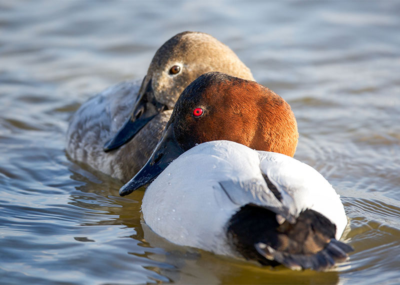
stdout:
POLYGON ((184 87, 207 71, 254 80, 215 37, 197 31, 172 36, 155 52, 141 83, 121 82, 78 108, 66 132, 68 157, 126 182, 149 158, 184 87))

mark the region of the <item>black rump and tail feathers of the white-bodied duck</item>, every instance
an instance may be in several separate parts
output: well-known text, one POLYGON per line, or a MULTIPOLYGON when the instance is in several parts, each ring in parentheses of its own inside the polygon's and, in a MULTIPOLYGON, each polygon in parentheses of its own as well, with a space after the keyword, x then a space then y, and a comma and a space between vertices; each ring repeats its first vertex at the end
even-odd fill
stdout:
POLYGON ((233 248, 261 264, 314 270, 344 261, 352 251, 334 238, 336 226, 322 214, 306 209, 294 222, 279 214, 274 208, 242 206, 228 223, 227 237, 233 248))

